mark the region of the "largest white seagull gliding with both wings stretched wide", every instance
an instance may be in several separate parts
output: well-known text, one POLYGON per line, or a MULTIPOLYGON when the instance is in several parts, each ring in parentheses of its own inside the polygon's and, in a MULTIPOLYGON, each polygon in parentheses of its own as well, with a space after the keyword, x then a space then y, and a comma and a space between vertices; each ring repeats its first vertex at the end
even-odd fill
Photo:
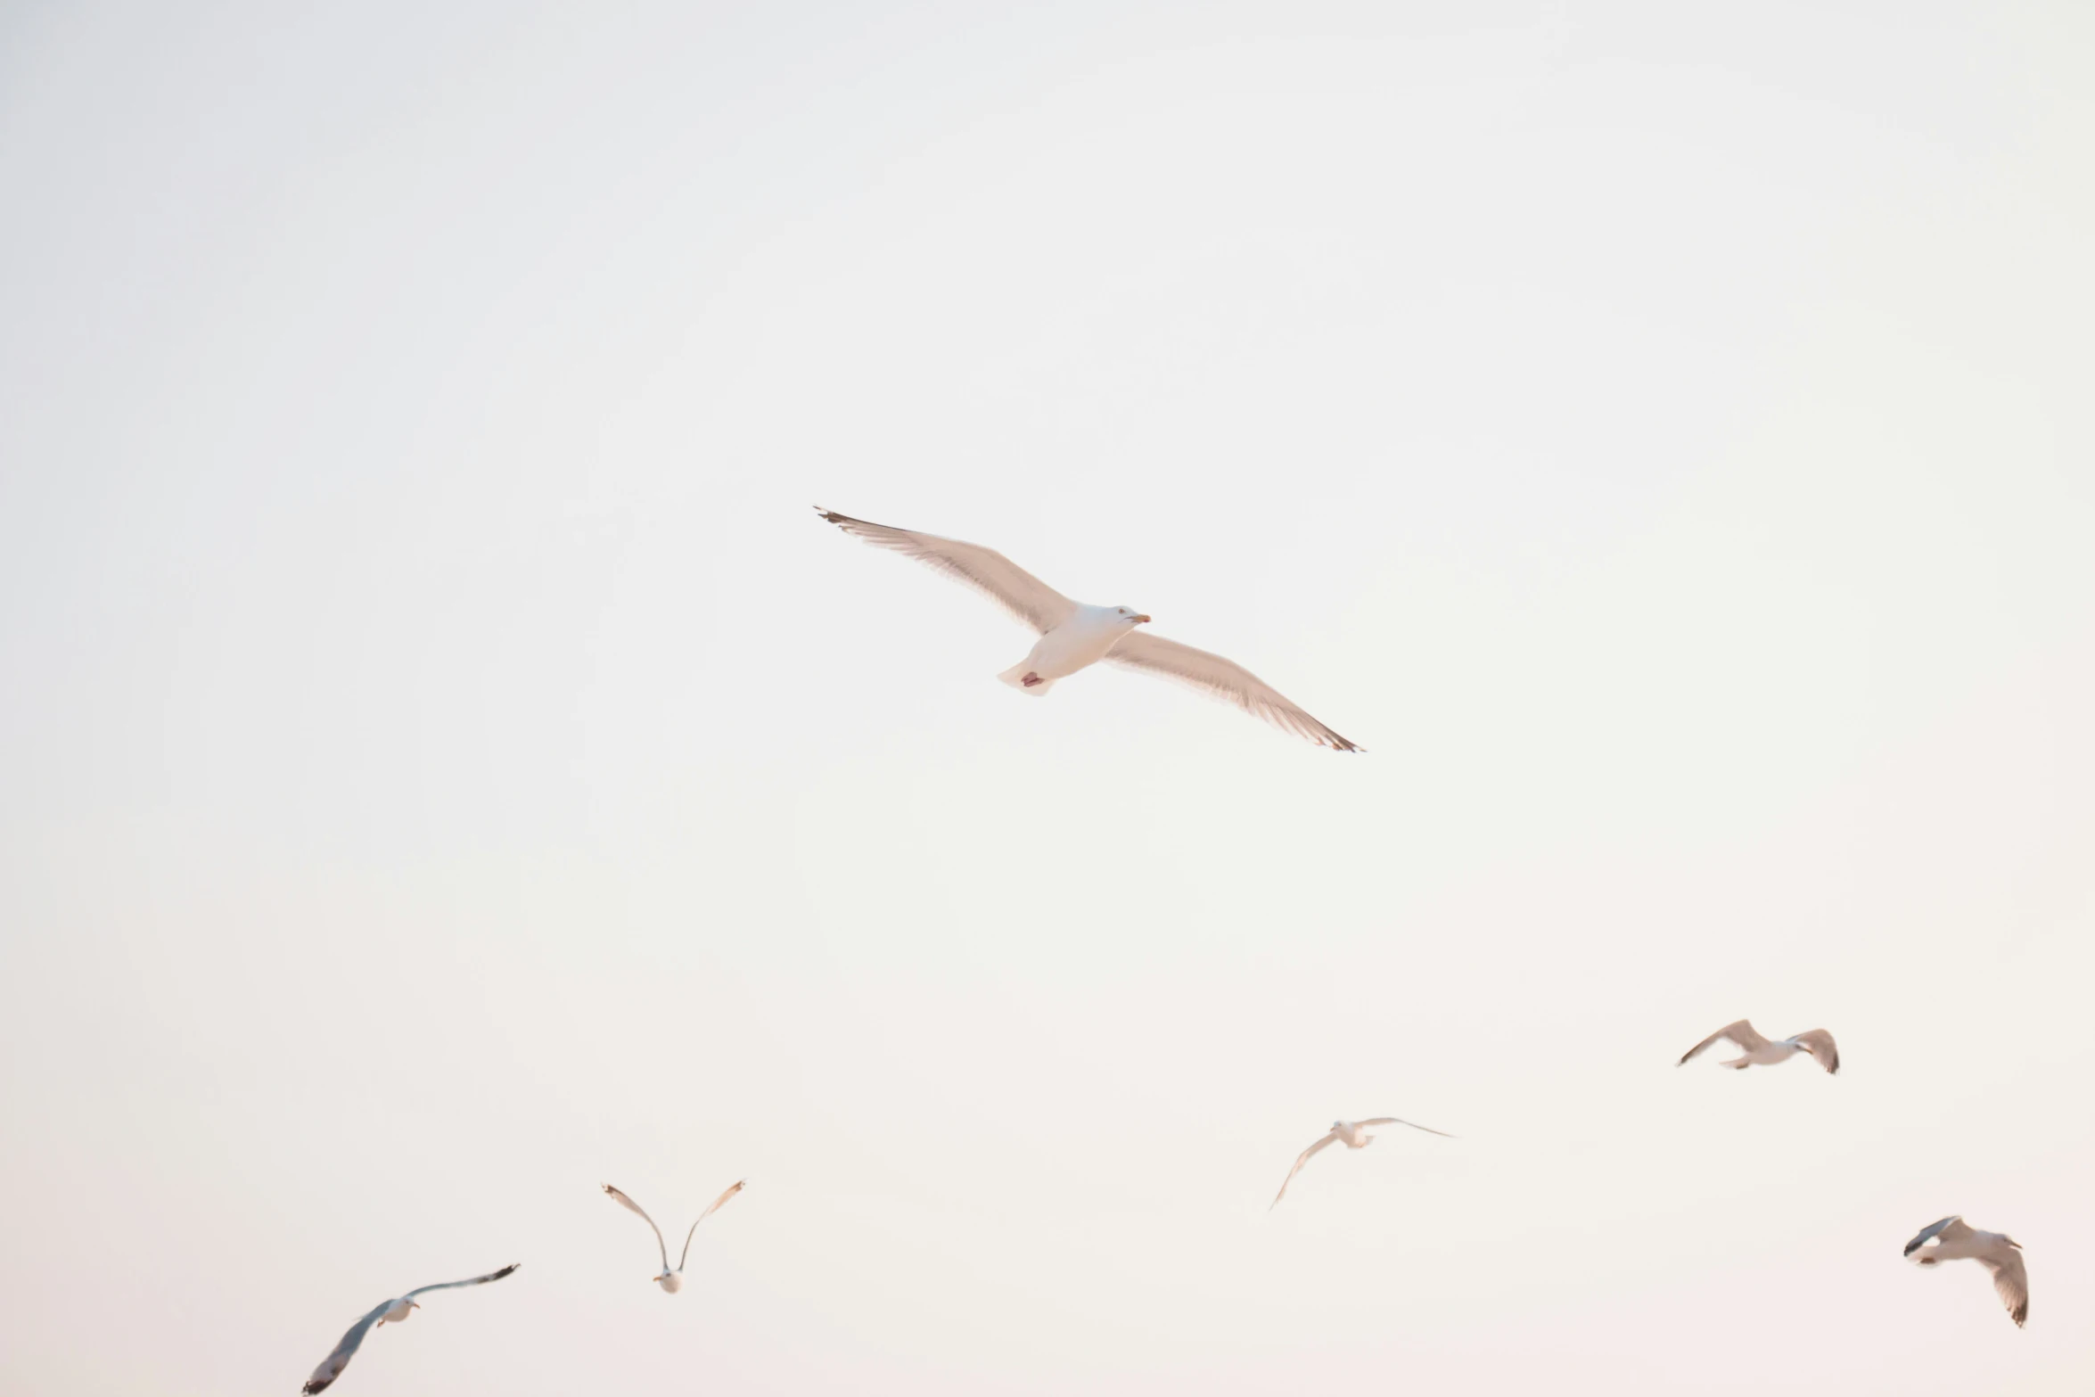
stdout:
POLYGON ((1244 666, 1192 645, 1167 641, 1161 635, 1135 635, 1135 626, 1146 626, 1150 618, 1133 607, 1079 605, 1012 559, 974 542, 867 524, 821 505, 815 505, 815 513, 878 549, 892 549, 955 582, 966 582, 1010 612, 1012 618, 1033 626, 1041 637, 1033 651, 997 674, 1020 693, 1045 695, 1058 679, 1110 660, 1144 674, 1175 679, 1209 697, 1236 704, 1253 718, 1265 718, 1320 748, 1364 750, 1311 718, 1244 666))

